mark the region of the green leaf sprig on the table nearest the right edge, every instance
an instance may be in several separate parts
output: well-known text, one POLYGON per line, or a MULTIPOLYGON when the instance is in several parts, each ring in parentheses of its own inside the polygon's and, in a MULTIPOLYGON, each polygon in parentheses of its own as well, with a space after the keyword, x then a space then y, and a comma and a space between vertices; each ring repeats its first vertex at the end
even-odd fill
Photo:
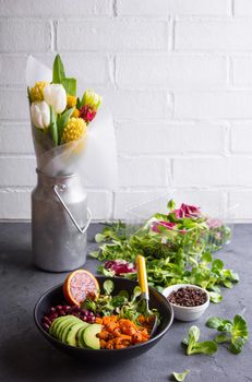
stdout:
POLYGON ((221 334, 215 337, 216 343, 228 343, 228 348, 233 354, 241 353, 242 347, 249 337, 247 322, 240 314, 235 315, 233 321, 212 317, 206 322, 206 326, 221 332, 221 334))

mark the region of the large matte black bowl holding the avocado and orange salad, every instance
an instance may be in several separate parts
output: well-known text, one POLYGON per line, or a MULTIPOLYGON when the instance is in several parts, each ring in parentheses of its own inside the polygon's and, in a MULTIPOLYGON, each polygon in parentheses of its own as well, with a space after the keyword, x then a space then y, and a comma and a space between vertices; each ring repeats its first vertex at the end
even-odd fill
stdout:
MULTIPOLYGON (((99 285, 101 286, 106 279, 109 277, 97 277, 99 285)), ((128 290, 131 295, 134 287, 137 285, 136 282, 115 277, 111 278, 115 283, 113 294, 117 295, 119 290, 128 290)), ((47 333, 43 325, 43 318, 51 307, 57 305, 64 305, 63 297, 63 284, 53 287, 52 289, 46 291, 37 301, 34 309, 34 320, 39 330, 39 332, 57 348, 65 351, 67 354, 74 356, 76 358, 81 358, 83 360, 88 361, 119 361, 129 358, 134 358, 141 356, 143 353, 149 350, 153 346, 157 344, 157 342, 166 334, 168 329, 170 327, 173 320, 173 311, 168 302, 168 300, 156 289, 149 287, 149 306, 151 308, 156 308, 160 313, 160 324, 155 333, 155 335, 146 343, 134 345, 131 347, 127 347, 124 349, 83 349, 79 347, 69 346, 56 338, 53 338, 49 333, 47 333)))

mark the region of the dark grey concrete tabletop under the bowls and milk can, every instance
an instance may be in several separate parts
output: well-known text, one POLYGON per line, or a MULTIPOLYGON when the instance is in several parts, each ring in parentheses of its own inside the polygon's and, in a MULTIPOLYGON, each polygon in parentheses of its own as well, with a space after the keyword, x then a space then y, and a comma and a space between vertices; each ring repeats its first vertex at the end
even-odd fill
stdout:
MULTIPOLYGON (((89 229, 89 247, 100 229, 89 229)), ((231 244, 218 253, 227 267, 240 274, 241 282, 233 289, 224 290, 220 305, 211 305, 197 321, 202 339, 213 336, 205 327, 212 314, 232 318, 242 313, 252 318, 252 225, 238 225, 231 244)), ((95 271, 96 261, 87 259, 85 267, 95 271)), ((33 309, 39 296, 61 283, 65 274, 51 274, 33 265, 29 224, 0 224, 0 381, 99 381, 148 382, 168 381, 172 371, 191 369, 187 381, 238 382, 252 381, 252 344, 233 356, 221 346, 214 357, 188 357, 180 346, 190 323, 175 322, 164 338, 145 355, 130 361, 94 367, 80 362, 57 349, 40 335, 33 321, 33 309)), ((252 331, 251 331, 252 333, 252 331)), ((252 336, 252 335, 251 335, 252 336)))

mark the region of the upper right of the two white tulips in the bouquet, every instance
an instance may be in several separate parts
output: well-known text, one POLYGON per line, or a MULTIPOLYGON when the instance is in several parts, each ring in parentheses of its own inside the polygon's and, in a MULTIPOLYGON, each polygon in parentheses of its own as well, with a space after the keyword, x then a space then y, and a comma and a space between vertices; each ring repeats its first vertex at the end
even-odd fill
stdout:
POLYGON ((44 99, 51 105, 56 114, 61 114, 67 107, 67 93, 61 84, 49 84, 44 87, 44 99))

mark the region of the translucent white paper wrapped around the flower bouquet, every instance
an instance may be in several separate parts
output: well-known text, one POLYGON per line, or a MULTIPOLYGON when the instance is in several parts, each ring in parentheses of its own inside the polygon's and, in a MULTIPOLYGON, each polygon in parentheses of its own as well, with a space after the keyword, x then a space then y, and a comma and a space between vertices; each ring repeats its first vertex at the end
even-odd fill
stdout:
MULTIPOLYGON (((27 86, 34 86, 37 81, 51 82, 51 70, 29 56, 26 64, 27 86)), ((104 99, 84 139, 53 147, 50 140, 33 124, 32 132, 37 168, 45 175, 56 177, 79 174, 84 187, 117 188, 115 128, 104 99)))

